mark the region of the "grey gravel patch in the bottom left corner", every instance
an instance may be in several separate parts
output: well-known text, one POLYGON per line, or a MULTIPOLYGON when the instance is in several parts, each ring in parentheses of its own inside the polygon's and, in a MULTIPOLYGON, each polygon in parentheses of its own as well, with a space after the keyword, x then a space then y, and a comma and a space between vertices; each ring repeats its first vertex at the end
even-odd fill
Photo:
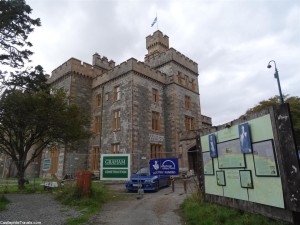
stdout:
POLYGON ((79 216, 78 212, 55 201, 51 194, 5 196, 11 203, 7 207, 8 210, 0 212, 0 224, 62 225, 67 218, 79 216))

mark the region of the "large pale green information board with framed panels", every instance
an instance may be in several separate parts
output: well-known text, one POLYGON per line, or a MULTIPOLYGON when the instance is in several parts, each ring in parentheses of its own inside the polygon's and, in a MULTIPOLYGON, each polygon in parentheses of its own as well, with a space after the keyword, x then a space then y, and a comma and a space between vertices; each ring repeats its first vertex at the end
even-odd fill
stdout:
POLYGON ((271 121, 267 114, 201 137, 205 193, 284 208, 271 121))

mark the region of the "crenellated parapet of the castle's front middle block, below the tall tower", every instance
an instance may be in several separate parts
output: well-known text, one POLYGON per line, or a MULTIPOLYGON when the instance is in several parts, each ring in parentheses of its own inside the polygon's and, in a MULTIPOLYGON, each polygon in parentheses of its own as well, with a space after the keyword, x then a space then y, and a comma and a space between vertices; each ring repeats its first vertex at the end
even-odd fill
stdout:
POLYGON ((93 80, 92 87, 95 88, 103 83, 106 83, 129 72, 135 72, 140 75, 147 76, 158 82, 166 83, 166 75, 164 73, 161 73, 158 70, 154 70, 151 67, 147 66, 145 63, 140 62, 134 58, 130 58, 127 61, 109 70, 108 72, 97 76, 93 80))

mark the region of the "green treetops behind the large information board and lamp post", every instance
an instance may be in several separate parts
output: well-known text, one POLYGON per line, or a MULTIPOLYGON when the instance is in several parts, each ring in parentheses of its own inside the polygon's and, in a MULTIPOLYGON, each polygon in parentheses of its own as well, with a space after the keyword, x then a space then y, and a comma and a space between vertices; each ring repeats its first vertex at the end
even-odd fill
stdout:
MULTIPOLYGON (((285 102, 289 103, 290 105, 296 144, 297 144, 297 148, 300 149, 300 98, 297 96, 292 96, 292 97, 285 96, 284 99, 285 102)), ((259 102, 259 104, 256 105, 255 107, 248 109, 246 114, 258 112, 270 106, 278 106, 279 104, 280 104, 279 96, 275 95, 274 97, 271 97, 268 100, 263 100, 259 102)))

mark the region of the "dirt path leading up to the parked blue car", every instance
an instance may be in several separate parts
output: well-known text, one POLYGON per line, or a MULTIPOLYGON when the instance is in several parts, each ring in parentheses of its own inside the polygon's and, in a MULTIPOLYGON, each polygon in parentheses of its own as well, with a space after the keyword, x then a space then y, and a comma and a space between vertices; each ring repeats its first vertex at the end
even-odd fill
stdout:
MULTIPOLYGON (((122 190, 124 192, 124 189, 122 190)), ((140 195, 137 193, 129 194, 130 200, 111 201, 105 204, 89 224, 181 225, 183 222, 178 210, 191 191, 191 183, 188 183, 187 193, 185 193, 182 181, 177 181, 174 192, 171 187, 168 187, 158 192, 144 193, 142 198, 139 198, 140 195)))

